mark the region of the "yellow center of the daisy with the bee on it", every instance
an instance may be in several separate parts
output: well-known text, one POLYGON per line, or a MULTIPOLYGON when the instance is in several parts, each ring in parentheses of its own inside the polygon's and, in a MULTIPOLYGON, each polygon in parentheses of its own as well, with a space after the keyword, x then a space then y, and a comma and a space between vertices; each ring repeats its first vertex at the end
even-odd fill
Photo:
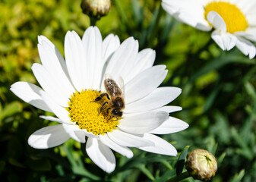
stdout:
POLYGON ((104 105, 103 111, 100 108, 104 102, 108 101, 106 96, 100 101, 94 100, 100 96, 101 92, 96 90, 82 90, 71 96, 69 107, 69 117, 80 129, 86 129, 95 135, 104 134, 115 130, 121 118, 111 118, 110 110, 107 111, 108 104, 104 105), (110 119, 111 118, 111 119, 110 119))

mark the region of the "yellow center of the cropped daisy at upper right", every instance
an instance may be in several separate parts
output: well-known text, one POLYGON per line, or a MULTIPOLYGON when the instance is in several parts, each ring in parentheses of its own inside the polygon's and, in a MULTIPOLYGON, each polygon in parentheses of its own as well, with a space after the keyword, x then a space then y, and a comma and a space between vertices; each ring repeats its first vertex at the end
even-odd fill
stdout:
POLYGON ((248 27, 245 15, 235 5, 229 2, 210 2, 204 7, 204 17, 207 20, 207 14, 210 11, 215 11, 220 14, 220 17, 226 23, 226 31, 228 33, 234 33, 239 31, 245 31, 248 27))

